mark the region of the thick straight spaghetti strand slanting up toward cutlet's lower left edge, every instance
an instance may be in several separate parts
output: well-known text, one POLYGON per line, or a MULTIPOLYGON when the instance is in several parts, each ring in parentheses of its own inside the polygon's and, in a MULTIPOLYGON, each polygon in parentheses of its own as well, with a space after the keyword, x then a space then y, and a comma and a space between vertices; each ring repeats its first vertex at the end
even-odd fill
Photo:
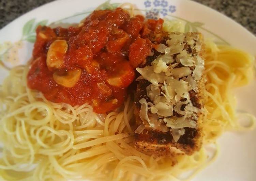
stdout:
POLYGON ((73 149, 87 148, 87 147, 91 147, 93 145, 99 145, 99 144, 102 144, 102 143, 115 141, 115 140, 118 140, 118 139, 123 139, 123 138, 128 137, 128 136, 129 136, 129 134, 127 134, 127 133, 105 136, 105 137, 97 138, 97 139, 94 139, 94 140, 91 140, 91 141, 88 141, 88 142, 85 142, 85 143, 80 143, 80 144, 74 145, 73 149))

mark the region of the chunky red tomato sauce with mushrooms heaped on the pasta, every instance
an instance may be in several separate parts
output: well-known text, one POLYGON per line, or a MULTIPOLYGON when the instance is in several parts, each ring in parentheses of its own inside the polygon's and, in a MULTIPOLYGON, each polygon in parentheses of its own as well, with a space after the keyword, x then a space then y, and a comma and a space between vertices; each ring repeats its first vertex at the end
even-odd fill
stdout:
POLYGON ((162 24, 117 8, 94 11, 77 27, 39 26, 28 86, 52 102, 89 103, 96 113, 113 110, 151 53, 147 37, 162 24))

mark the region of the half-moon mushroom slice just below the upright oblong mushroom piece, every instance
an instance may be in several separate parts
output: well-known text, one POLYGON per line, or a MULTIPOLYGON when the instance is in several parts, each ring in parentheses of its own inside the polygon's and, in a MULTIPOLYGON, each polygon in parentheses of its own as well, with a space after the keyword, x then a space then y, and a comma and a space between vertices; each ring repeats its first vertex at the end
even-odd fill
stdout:
POLYGON ((81 77, 81 72, 82 70, 80 68, 67 70, 65 72, 57 70, 54 72, 52 77, 57 84, 64 87, 74 87, 81 77))

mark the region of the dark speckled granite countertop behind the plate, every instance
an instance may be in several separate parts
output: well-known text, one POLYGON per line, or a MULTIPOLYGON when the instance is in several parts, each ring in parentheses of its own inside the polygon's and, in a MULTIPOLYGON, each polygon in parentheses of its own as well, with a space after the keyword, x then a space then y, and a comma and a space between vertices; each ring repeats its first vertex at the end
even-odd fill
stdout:
MULTIPOLYGON (((53 0, 0 0, 0 28, 22 14, 53 0)), ((242 24, 256 35, 256 0, 194 0, 242 24)))

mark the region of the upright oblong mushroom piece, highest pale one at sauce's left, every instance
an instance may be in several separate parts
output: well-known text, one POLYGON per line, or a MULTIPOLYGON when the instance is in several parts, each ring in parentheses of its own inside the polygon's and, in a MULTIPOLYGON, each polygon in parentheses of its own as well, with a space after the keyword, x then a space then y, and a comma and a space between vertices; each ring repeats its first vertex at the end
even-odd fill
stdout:
POLYGON ((61 69, 64 66, 64 55, 67 52, 66 40, 55 40, 47 52, 46 64, 49 70, 61 69))

